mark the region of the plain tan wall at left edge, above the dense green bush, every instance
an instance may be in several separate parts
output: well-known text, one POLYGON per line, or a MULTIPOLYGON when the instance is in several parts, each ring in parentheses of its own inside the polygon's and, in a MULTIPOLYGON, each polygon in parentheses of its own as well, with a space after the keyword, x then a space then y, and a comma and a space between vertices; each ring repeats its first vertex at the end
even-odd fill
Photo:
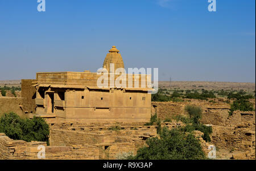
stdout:
POLYGON ((23 99, 19 97, 0 97, 0 116, 3 113, 14 112, 20 117, 23 117, 22 104, 23 99))

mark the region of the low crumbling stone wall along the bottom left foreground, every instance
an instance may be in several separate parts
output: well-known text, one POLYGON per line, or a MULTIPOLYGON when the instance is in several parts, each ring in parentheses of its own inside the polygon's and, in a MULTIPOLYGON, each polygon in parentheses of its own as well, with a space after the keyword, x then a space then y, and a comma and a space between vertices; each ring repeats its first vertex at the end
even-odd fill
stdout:
POLYGON ((51 159, 99 159, 100 148, 97 146, 46 146, 46 142, 25 142, 10 139, 0 133, 0 159, 38 159, 38 146, 46 149, 46 158, 51 159))

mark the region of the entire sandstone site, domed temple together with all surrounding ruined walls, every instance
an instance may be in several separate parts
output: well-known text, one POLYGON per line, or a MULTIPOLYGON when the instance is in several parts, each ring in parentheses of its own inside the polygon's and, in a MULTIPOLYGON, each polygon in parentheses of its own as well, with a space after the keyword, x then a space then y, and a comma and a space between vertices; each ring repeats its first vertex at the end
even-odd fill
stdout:
MULTIPOLYGON (((115 64, 114 69, 124 67, 115 46, 106 55, 103 68, 108 78, 117 78, 110 63, 115 64)), ((21 97, 1 97, 0 114, 43 117, 50 132, 49 146, 46 142, 13 140, 0 133, 0 159, 38 159, 39 146, 45 147, 46 159, 119 159, 123 153, 135 155, 148 138, 158 136, 159 125, 145 126, 151 116, 156 114, 162 121, 168 118, 160 126, 175 129, 185 125, 174 118, 187 116, 184 109, 188 104, 200 106, 201 123, 212 127, 209 143, 202 132, 192 131, 205 155, 214 145, 217 156, 226 153, 225 159, 255 159, 255 111, 237 110, 230 116, 230 104, 223 100, 151 102, 147 93, 151 89, 141 86, 141 75, 138 79, 132 77, 139 88, 111 87, 110 83, 109 88, 99 88, 100 76, 89 71, 39 72, 36 79, 22 80, 21 97)), ((255 100, 253 104, 255 108, 255 100)))

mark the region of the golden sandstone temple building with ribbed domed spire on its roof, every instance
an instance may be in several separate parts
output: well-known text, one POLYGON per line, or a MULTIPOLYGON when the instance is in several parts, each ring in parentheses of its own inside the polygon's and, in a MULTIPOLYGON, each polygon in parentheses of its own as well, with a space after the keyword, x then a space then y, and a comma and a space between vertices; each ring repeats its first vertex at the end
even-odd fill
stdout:
MULTIPOLYGON (((103 63, 103 72, 38 72, 35 114, 50 122, 148 122, 151 117, 151 75, 123 74, 123 86, 116 86, 124 68, 119 50, 112 47, 103 63), (114 69, 111 69, 111 65, 114 69), (107 72, 108 71, 108 72, 107 72), (97 86, 97 80, 106 74, 107 86, 97 86), (132 80, 128 83, 129 78, 132 80), (136 86, 138 85, 138 86, 136 86)), ((120 83, 121 83, 120 82, 120 83)))

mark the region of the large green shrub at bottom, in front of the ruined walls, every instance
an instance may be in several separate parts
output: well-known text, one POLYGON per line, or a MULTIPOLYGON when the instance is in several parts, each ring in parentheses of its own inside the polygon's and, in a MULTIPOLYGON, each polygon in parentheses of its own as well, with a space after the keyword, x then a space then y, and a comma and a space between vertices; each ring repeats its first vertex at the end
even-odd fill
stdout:
POLYGON ((192 134, 166 127, 154 137, 146 141, 147 147, 139 148, 136 156, 128 159, 136 160, 193 160, 205 159, 201 144, 192 134))

